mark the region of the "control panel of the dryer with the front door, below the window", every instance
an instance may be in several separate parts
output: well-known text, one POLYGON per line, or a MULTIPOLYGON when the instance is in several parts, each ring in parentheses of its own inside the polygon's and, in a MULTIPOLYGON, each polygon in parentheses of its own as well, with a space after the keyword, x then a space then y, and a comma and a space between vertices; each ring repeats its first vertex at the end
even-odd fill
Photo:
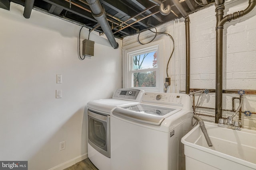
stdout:
POLYGON ((143 92, 143 90, 121 88, 116 90, 113 98, 124 100, 140 100, 143 92))

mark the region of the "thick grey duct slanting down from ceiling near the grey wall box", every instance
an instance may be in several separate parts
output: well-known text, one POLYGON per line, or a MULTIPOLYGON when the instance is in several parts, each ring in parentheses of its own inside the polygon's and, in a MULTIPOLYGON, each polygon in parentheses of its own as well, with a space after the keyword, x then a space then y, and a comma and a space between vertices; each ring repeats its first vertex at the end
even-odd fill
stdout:
POLYGON ((106 19, 106 12, 104 8, 100 5, 99 0, 86 0, 92 10, 92 16, 98 21, 100 27, 104 31, 109 43, 114 49, 118 48, 118 43, 116 42, 110 25, 106 19))

